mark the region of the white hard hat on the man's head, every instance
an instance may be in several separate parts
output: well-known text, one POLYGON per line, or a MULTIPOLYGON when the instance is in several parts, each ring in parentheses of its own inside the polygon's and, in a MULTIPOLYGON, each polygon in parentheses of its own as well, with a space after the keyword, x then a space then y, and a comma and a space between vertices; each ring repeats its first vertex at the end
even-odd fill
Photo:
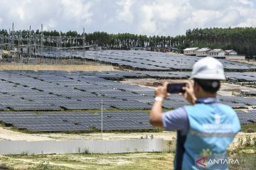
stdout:
POLYGON ((225 80, 223 64, 213 57, 204 57, 193 65, 191 79, 225 80))

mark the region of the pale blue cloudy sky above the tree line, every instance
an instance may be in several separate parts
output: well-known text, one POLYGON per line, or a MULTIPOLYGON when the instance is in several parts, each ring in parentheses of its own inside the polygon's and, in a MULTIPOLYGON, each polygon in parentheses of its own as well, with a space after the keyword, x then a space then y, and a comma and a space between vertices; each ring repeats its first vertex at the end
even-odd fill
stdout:
POLYGON ((181 35, 255 27, 256 0, 0 0, 0 29, 181 35))

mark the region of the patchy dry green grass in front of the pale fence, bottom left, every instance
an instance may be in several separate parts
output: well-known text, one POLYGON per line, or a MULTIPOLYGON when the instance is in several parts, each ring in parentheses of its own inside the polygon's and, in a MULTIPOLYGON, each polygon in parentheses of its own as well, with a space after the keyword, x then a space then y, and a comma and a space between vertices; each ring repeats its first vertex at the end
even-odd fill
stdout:
POLYGON ((1 156, 8 169, 172 169, 174 154, 48 154, 1 156))

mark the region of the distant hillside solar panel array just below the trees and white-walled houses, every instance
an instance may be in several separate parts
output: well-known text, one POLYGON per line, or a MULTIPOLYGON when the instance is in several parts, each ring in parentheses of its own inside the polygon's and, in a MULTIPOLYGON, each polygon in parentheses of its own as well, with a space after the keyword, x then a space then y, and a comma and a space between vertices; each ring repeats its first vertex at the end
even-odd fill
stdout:
MULTIPOLYGON (((150 51, 129 51, 129 50, 104 50, 98 51, 98 60, 132 69, 171 71, 171 70, 191 70, 193 64, 202 57, 173 55, 164 52, 150 51)), ((82 56, 82 52, 77 51, 77 57, 82 56)), ((95 60, 95 52, 86 51, 85 58, 95 60)), ((225 69, 228 70, 249 70, 256 69, 255 65, 233 62, 220 59, 225 69)))

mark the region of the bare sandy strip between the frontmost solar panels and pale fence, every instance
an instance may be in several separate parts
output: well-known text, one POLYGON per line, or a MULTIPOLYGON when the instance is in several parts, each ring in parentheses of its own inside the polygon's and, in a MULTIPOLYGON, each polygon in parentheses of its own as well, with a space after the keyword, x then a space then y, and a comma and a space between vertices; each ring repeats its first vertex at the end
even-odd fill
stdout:
MULTIPOLYGON (((250 135, 251 138, 256 137, 256 133, 240 132, 235 137, 233 145, 230 149, 238 147, 238 139, 250 135)), ((176 132, 92 132, 92 133, 63 133, 63 132, 48 132, 48 133, 23 133, 13 131, 10 128, 0 127, 0 140, 121 140, 121 139, 141 139, 141 138, 162 138, 164 140, 176 140, 176 132)))

